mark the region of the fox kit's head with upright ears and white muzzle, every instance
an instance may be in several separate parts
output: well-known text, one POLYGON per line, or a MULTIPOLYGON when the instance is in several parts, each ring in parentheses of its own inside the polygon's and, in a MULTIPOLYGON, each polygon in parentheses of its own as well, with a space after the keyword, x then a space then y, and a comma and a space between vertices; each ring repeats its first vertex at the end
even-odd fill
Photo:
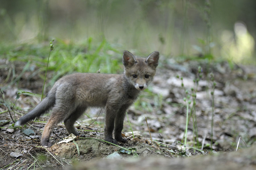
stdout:
POLYGON ((124 74, 137 90, 144 90, 152 82, 158 66, 159 52, 152 52, 147 58, 135 58, 129 51, 123 52, 124 74))

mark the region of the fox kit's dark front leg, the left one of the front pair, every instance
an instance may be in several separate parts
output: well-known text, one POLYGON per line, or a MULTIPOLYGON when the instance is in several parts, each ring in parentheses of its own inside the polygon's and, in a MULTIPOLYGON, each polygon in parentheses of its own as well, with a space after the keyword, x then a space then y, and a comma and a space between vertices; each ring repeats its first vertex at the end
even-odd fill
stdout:
POLYGON ((117 113, 116 108, 114 108, 112 105, 106 105, 104 136, 105 136, 105 141, 111 142, 113 144, 117 144, 117 141, 113 139, 113 134, 112 134, 114 130, 116 113, 117 113))

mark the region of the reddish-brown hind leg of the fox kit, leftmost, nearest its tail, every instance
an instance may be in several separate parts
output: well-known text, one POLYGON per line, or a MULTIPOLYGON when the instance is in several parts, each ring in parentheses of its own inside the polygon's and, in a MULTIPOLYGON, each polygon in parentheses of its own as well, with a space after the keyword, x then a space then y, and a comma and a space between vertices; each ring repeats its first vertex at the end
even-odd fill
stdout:
POLYGON ((42 146, 51 146, 51 143, 49 142, 50 135, 52 133, 53 128, 61 122, 67 115, 70 115, 75 108, 72 108, 68 105, 56 105, 52 109, 52 113, 50 118, 48 119, 44 131, 41 138, 41 144, 42 146))

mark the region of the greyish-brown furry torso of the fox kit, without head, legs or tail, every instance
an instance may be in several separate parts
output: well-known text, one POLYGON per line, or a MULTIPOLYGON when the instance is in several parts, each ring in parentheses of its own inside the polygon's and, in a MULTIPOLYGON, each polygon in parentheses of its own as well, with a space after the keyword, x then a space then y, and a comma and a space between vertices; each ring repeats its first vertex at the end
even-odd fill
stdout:
POLYGON ((104 107, 109 94, 121 86, 122 75, 74 73, 59 79, 56 98, 75 101, 91 107, 104 107))

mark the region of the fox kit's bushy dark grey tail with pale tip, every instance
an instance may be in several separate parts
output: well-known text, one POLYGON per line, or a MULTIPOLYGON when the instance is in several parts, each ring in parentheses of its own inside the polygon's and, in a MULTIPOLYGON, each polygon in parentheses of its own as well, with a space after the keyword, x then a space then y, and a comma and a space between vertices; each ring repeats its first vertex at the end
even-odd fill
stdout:
POLYGON ((15 126, 21 126, 26 122, 33 120, 36 117, 40 117, 42 114, 49 111, 55 105, 55 93, 57 88, 53 87, 46 98, 44 98, 32 111, 22 116, 16 123, 15 126))

